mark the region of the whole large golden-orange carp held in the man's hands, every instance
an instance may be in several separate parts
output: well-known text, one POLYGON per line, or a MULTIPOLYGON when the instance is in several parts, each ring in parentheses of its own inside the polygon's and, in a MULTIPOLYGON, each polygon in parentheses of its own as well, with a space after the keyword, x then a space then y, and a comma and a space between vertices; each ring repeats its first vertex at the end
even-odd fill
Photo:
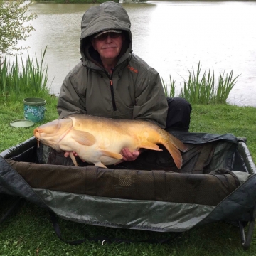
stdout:
POLYGON ((161 151, 162 144, 169 151, 178 169, 182 166, 180 151, 186 146, 156 124, 141 120, 112 119, 87 114, 73 114, 56 119, 34 129, 34 136, 56 151, 68 151, 78 166, 73 151, 80 159, 96 166, 117 164, 121 150, 151 149, 161 151), (180 150, 180 151, 179 151, 180 150))

